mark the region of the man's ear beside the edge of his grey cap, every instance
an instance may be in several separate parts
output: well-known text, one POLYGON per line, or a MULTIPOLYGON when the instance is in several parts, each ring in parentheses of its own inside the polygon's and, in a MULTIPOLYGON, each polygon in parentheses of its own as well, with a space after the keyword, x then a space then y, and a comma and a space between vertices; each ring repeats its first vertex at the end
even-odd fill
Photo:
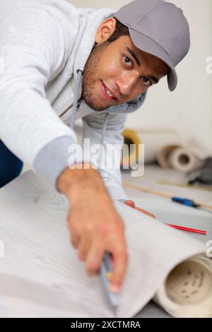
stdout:
POLYGON ((107 18, 99 26, 97 32, 95 33, 95 42, 101 44, 105 42, 113 34, 117 25, 117 20, 113 17, 107 18))

